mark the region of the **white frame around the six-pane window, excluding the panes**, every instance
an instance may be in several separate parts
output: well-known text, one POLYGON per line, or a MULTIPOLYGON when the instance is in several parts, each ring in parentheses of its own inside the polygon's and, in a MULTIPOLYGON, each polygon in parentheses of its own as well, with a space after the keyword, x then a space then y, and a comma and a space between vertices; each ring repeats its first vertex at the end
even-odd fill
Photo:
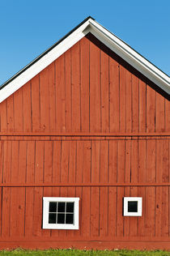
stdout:
POLYGON ((44 197, 43 228, 45 229, 79 229, 79 198, 44 197), (74 224, 49 224, 49 202, 73 202, 74 224))

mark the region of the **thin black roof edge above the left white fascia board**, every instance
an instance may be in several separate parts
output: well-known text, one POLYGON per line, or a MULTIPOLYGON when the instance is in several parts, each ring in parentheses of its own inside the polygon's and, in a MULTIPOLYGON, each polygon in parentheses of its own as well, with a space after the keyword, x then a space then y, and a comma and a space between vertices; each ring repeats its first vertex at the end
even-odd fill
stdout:
POLYGON ((37 58, 35 58, 32 62, 28 63, 27 66, 24 66, 22 70, 19 70, 19 72, 17 72, 15 75, 13 75, 10 79, 8 79, 5 83, 2 83, 2 85, 0 86, 0 90, 2 90, 3 87, 6 87, 6 85, 8 83, 11 83, 11 81, 13 81, 15 78, 17 78, 19 75, 21 75, 25 70, 28 70, 28 68, 30 66, 32 66, 33 64, 35 64, 37 61, 40 60, 40 58, 44 57, 45 54, 49 53, 51 49, 53 49, 55 46, 59 45, 63 40, 66 39, 67 36, 70 36, 70 34, 72 32, 74 32, 77 28, 79 28, 81 25, 83 25, 83 23, 85 23, 88 19, 93 19, 91 16, 88 16, 86 19, 84 19, 81 23, 79 23, 78 26, 76 26, 74 29, 72 29, 70 32, 68 32, 65 36, 63 36, 59 41, 57 41, 54 45, 52 45, 51 47, 49 47, 49 49, 47 49, 44 53, 41 53, 37 58))

